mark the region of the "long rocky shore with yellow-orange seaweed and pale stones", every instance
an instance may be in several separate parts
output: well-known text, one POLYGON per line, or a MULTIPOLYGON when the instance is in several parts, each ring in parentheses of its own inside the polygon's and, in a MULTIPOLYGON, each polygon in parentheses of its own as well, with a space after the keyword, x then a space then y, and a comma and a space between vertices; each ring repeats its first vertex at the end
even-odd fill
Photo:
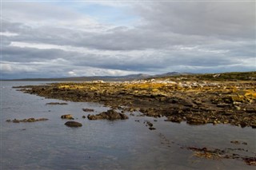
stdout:
POLYGON ((190 125, 256 128, 256 81, 142 80, 19 86, 24 93, 64 101, 98 102, 123 112, 190 125))

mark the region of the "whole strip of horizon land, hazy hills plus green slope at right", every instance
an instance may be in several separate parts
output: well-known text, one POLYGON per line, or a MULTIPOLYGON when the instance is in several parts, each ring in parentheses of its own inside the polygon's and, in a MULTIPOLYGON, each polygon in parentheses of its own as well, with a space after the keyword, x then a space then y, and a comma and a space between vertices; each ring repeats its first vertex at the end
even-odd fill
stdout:
POLYGON ((141 79, 157 79, 157 80, 182 80, 182 81, 256 81, 256 72, 233 72, 233 73, 178 73, 170 72, 157 75, 149 74, 130 74, 120 77, 96 76, 96 77, 62 77, 62 78, 30 78, 30 79, 14 79, 4 81, 133 81, 141 79))

